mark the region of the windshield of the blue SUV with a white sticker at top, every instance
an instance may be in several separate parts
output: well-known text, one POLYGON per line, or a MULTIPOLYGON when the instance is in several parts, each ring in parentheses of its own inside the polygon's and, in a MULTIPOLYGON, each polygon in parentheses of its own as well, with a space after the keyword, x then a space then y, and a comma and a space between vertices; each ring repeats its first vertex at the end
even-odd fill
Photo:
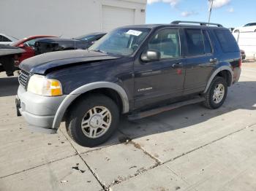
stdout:
POLYGON ((150 28, 118 28, 99 39, 89 47, 89 50, 117 55, 132 55, 150 30, 150 28))

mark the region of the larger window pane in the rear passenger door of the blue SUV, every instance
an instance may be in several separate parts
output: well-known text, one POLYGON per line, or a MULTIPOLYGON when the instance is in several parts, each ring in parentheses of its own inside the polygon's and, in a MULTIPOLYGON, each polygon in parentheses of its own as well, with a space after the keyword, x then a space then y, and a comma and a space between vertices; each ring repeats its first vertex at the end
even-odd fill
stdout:
POLYGON ((188 55, 203 55, 204 44, 200 29, 185 29, 188 55))

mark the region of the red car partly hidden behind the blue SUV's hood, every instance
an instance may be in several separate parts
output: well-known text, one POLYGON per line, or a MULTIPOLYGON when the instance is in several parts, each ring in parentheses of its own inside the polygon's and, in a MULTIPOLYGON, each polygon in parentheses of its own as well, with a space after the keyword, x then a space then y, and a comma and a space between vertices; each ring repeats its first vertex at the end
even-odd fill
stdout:
POLYGON ((21 61, 30 58, 35 55, 34 52, 34 43, 37 41, 37 39, 40 38, 50 38, 50 37, 56 37, 56 36, 49 36, 49 35, 37 35, 37 36, 29 36, 27 38, 21 39, 18 42, 14 42, 11 44, 14 47, 20 47, 25 52, 23 52, 19 57, 15 58, 15 66, 18 66, 21 61))

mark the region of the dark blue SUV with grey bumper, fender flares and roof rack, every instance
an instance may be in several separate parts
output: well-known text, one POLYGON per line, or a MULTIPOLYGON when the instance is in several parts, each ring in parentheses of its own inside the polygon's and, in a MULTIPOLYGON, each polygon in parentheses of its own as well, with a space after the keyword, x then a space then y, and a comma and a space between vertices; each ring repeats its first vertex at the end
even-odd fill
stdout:
POLYGON ((45 133, 64 121, 72 139, 94 147, 110 138, 121 114, 137 120, 199 102, 219 108, 240 77, 240 50, 227 28, 196 23, 121 27, 89 50, 23 61, 19 114, 45 133))

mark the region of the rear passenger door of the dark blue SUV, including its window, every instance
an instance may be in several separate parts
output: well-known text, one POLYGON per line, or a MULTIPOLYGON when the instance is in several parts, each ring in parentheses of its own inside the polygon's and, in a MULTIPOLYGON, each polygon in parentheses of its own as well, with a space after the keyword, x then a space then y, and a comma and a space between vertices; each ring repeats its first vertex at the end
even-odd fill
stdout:
POLYGON ((184 95, 188 95, 205 89, 208 77, 218 61, 214 57, 206 29, 184 28, 184 36, 187 43, 184 95))

